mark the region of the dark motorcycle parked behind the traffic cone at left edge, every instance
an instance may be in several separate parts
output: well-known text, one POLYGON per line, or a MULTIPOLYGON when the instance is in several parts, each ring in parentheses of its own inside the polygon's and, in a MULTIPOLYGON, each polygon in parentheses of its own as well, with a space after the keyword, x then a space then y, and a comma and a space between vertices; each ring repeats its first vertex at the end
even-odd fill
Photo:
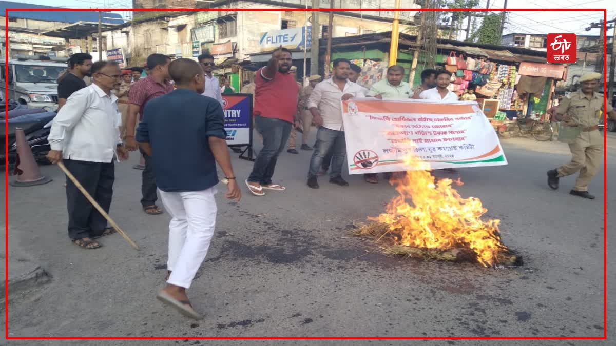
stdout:
MULTIPOLYGON (((17 110, 19 111, 19 110, 17 110)), ((23 129, 23 132, 26 136, 26 141, 32 150, 32 154, 34 155, 34 159, 39 163, 48 164, 49 161, 46 159, 46 155, 51 149, 49 147, 49 142, 47 142, 47 136, 49 136, 49 131, 51 130, 51 124, 53 119, 55 118, 55 112, 47 112, 47 111, 38 111, 38 113, 30 113, 24 115, 14 116, 10 114, 7 115, 7 119, 2 121, 1 130, 0 130, 0 142, 2 143, 2 149, 0 154, 0 159, 5 162, 5 159, 8 159, 9 165, 15 164, 17 159, 17 141, 15 140, 15 131, 17 127, 23 129), (5 126, 7 124, 8 131, 5 130, 5 126), (7 147, 7 155, 5 155, 4 143, 5 139, 8 138, 8 147, 7 147)))

